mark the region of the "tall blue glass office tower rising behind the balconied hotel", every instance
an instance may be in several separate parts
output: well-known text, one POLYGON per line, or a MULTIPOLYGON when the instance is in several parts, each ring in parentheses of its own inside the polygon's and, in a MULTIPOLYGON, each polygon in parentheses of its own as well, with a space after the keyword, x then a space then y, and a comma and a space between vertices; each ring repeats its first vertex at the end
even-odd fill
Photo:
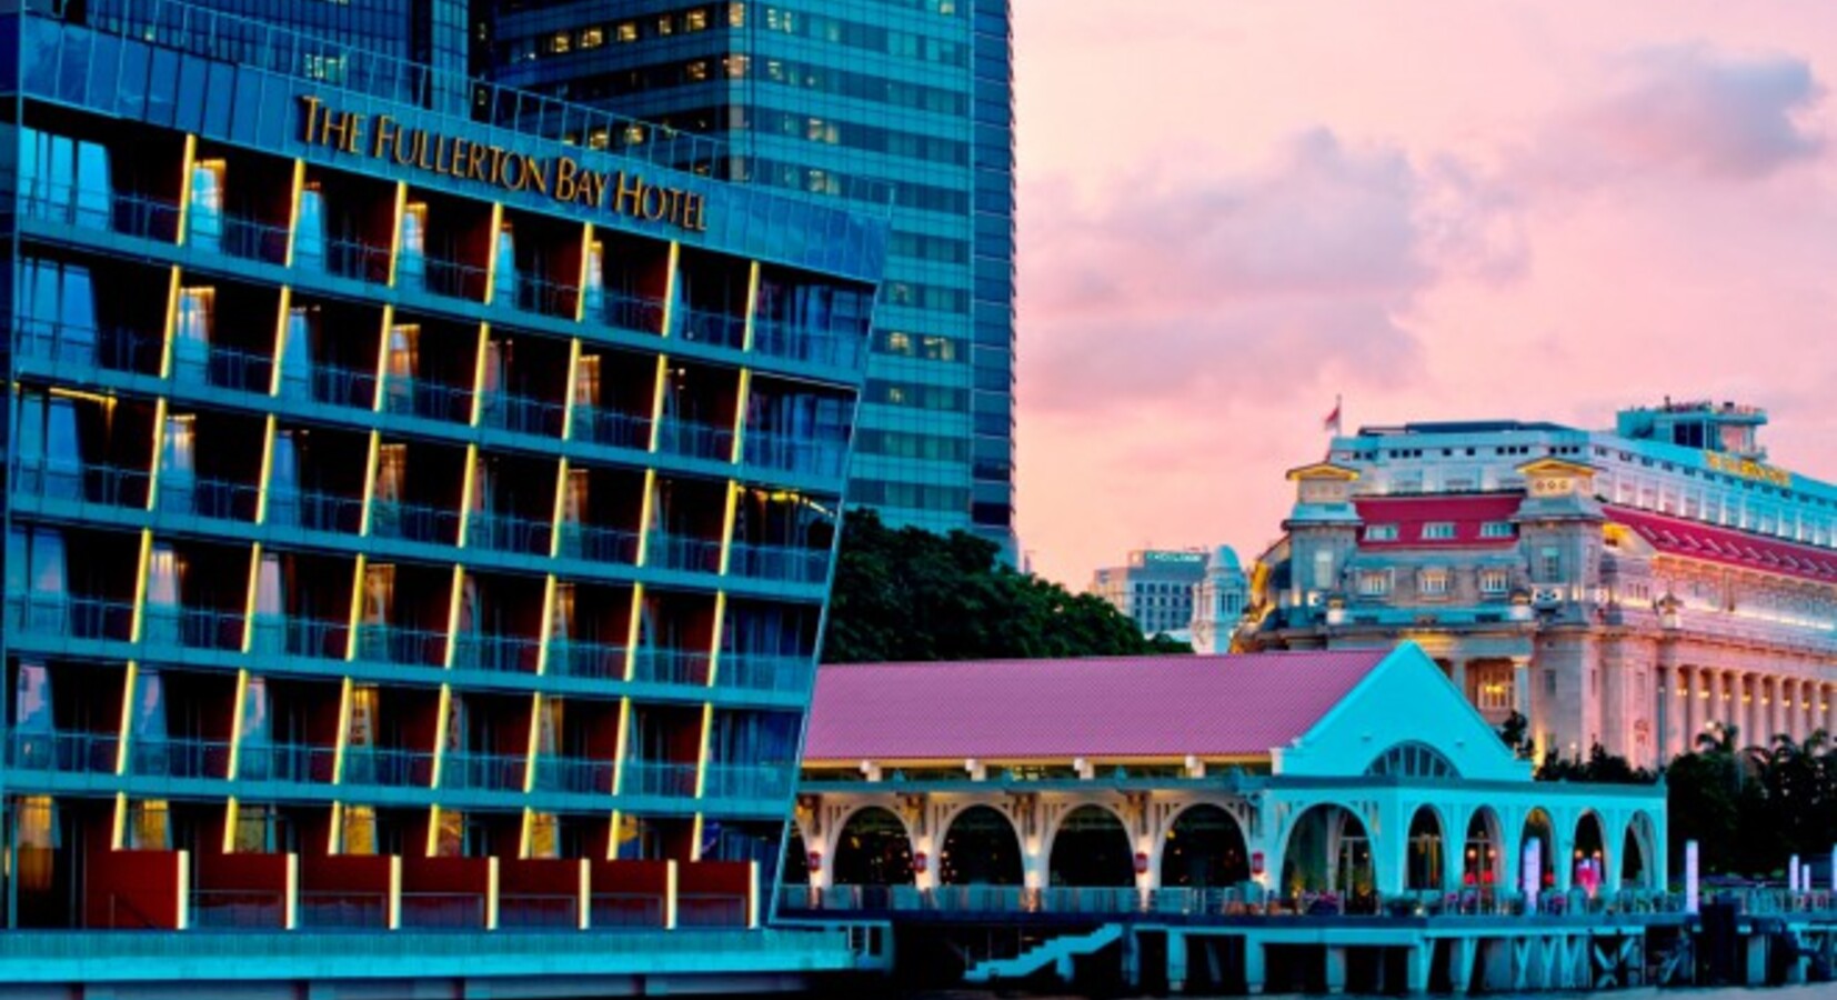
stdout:
MULTIPOLYGON (((716 169, 891 206, 852 502, 1012 553, 1009 0, 474 0, 494 79, 727 138, 716 169)), ((659 134, 584 134, 588 145, 659 134)))

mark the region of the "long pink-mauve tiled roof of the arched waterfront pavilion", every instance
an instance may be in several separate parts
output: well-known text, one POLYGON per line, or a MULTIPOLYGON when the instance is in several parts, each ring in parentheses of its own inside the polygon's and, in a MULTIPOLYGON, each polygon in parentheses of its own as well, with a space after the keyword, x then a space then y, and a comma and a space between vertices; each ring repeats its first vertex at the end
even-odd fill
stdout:
POLYGON ((1255 756, 1389 651, 860 664, 817 671, 806 761, 1255 756))

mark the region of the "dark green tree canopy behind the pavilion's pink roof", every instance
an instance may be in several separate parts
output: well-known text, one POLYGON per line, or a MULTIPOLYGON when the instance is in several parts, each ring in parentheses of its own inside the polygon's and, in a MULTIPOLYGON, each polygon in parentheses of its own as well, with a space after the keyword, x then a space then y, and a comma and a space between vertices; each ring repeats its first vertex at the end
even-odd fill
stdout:
POLYGON ((1102 597, 1009 568, 990 540, 887 528, 865 509, 843 522, 828 608, 827 664, 1190 653, 1143 638, 1102 597))

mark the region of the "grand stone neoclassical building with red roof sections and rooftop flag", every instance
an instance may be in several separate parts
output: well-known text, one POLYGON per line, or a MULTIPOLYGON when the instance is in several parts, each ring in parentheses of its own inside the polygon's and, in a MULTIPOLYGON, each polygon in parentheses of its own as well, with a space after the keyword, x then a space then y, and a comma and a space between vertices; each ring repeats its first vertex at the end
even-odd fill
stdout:
MULTIPOLYGON (((1536 754, 1662 765, 1701 733, 1837 732, 1837 487, 1767 463, 1732 403, 1611 432, 1363 428, 1290 472, 1245 649, 1420 643, 1536 754)), ((1212 623, 1233 627, 1233 623, 1212 623)))

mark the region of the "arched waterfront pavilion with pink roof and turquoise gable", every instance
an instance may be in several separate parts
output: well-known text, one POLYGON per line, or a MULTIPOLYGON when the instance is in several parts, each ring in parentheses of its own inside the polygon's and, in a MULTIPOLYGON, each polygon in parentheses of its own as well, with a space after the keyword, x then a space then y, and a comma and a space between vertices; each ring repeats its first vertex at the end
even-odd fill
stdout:
POLYGON ((1532 781, 1413 643, 827 665, 795 825, 794 910, 1666 884, 1662 787, 1532 781))

